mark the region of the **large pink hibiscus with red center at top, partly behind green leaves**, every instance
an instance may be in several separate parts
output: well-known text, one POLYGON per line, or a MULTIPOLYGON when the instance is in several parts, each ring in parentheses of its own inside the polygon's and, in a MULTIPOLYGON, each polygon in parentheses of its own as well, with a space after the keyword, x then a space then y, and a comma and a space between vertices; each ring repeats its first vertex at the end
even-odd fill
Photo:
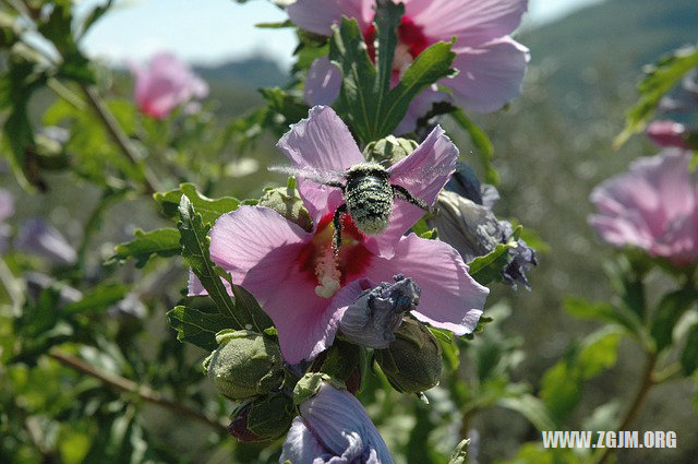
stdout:
MULTIPOLYGON (((395 0, 397 3, 397 0, 395 0)), ((529 61, 528 49, 508 36, 518 27, 528 0, 402 0, 405 15, 398 28, 393 63, 394 83, 429 46, 456 36, 454 68, 460 72, 440 84, 453 92, 457 106, 490 112, 519 95, 529 61)), ((341 16, 356 17, 374 57, 375 0, 298 0, 287 8, 291 21, 311 33, 328 36, 341 16)), ((339 94, 341 72, 321 58, 305 81, 310 105, 330 105, 339 94)), ((431 109, 431 103, 448 100, 435 88, 423 92, 412 104, 398 132, 414 129, 417 119, 431 109)))

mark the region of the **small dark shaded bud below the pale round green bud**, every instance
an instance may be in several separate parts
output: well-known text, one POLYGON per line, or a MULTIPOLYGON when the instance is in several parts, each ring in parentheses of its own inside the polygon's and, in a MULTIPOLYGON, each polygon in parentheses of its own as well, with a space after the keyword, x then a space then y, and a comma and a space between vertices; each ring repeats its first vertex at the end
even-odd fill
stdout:
POLYGON ((272 393, 240 406, 228 431, 240 441, 274 440, 288 431, 296 415, 289 395, 272 393))

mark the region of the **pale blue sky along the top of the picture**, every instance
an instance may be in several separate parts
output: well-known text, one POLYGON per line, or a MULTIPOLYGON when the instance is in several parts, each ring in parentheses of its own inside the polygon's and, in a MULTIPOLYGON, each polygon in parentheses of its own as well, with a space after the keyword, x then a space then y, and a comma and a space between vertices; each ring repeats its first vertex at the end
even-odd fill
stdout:
MULTIPOLYGON (((530 0, 526 22, 552 21, 600 0, 530 0)), ((83 0, 81 11, 104 0, 83 0)), ((254 24, 284 21, 285 13, 265 0, 117 0, 115 11, 86 37, 93 56, 123 62, 171 50, 196 63, 265 55, 285 64, 296 39, 288 29, 258 29, 254 24)))

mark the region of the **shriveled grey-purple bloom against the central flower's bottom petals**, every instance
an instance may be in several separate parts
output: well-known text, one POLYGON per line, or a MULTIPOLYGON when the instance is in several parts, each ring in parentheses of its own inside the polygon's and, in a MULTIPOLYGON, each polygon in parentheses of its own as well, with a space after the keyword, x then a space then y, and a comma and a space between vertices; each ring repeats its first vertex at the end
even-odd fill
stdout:
POLYGON ((339 330, 352 343, 380 349, 395 340, 395 331, 402 314, 419 304, 420 288, 404 275, 395 276, 395 284, 381 283, 364 290, 349 306, 339 321, 339 330))

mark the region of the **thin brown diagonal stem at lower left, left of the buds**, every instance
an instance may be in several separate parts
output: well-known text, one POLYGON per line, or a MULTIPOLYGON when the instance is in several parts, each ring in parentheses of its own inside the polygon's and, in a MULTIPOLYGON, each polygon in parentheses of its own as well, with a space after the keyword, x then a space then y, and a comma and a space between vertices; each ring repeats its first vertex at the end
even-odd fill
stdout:
POLYGON ((125 379, 120 376, 115 376, 112 373, 107 373, 107 372, 100 372, 94 366, 89 365, 88 362, 84 361, 79 357, 75 357, 56 349, 49 353, 49 356, 56 359, 57 361, 59 361, 60 364, 68 366, 70 368, 73 368, 79 372, 82 372, 89 377, 94 377, 95 379, 99 379, 107 385, 113 386, 123 392, 136 394, 141 400, 163 406, 180 416, 186 416, 192 419, 196 419, 201 423, 209 425, 215 429, 220 429, 221 427, 227 426, 227 423, 224 419, 216 419, 216 418, 208 417, 205 414, 194 409, 190 409, 189 407, 183 406, 180 403, 166 400, 163 397, 163 395, 159 392, 156 392, 149 386, 139 385, 134 381, 125 379))

